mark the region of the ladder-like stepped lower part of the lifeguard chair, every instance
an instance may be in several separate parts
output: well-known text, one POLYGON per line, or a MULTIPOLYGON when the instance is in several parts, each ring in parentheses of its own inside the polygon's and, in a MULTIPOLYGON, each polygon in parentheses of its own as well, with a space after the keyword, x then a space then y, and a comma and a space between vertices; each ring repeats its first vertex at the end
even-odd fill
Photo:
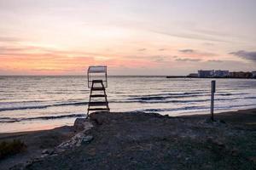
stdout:
POLYGON ((109 112, 109 106, 108 106, 108 99, 107 99, 107 94, 106 90, 104 88, 102 80, 93 80, 90 88, 90 99, 88 103, 88 110, 87 110, 87 117, 89 116, 90 111, 106 111, 109 112), (96 87, 95 85, 98 84, 100 86, 96 87), (102 91, 103 94, 93 94, 92 92, 94 91, 102 91), (104 98, 104 101, 91 101, 91 99, 94 98, 104 98), (97 106, 106 106, 104 108, 99 108, 97 106), (91 108, 94 107, 94 108, 91 108))

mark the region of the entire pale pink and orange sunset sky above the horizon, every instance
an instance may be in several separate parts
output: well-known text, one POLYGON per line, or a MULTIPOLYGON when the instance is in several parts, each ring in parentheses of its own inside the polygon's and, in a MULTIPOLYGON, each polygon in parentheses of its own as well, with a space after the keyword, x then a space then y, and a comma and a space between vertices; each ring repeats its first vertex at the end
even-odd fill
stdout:
POLYGON ((255 0, 0 0, 0 75, 256 70, 255 0))

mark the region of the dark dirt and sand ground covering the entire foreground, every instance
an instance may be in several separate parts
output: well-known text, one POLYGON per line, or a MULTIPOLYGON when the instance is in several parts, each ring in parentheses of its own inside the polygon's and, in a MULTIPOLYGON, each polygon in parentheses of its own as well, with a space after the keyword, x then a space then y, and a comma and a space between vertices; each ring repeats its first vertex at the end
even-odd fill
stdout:
POLYGON ((210 115, 95 112, 73 127, 1 133, 26 150, 1 169, 255 169, 256 109, 210 115))

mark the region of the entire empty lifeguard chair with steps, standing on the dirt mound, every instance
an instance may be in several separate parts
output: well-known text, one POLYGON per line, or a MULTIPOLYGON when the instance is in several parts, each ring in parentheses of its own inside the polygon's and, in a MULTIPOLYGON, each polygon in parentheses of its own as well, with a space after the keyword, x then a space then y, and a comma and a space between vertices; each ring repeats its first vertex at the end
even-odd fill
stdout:
POLYGON ((88 88, 90 88, 87 116, 89 116, 90 111, 109 112, 106 94, 108 87, 107 66, 89 66, 87 78, 88 88))

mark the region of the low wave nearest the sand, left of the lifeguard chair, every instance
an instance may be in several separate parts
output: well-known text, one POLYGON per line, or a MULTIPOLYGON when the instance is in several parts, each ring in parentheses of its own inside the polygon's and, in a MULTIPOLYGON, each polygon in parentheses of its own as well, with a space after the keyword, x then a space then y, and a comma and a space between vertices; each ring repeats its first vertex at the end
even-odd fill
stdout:
POLYGON ((23 122, 32 120, 49 120, 49 119, 61 119, 67 117, 84 117, 85 114, 73 114, 73 115, 60 115, 60 116, 37 116, 28 118, 11 118, 11 117, 0 117, 0 122, 23 122))

